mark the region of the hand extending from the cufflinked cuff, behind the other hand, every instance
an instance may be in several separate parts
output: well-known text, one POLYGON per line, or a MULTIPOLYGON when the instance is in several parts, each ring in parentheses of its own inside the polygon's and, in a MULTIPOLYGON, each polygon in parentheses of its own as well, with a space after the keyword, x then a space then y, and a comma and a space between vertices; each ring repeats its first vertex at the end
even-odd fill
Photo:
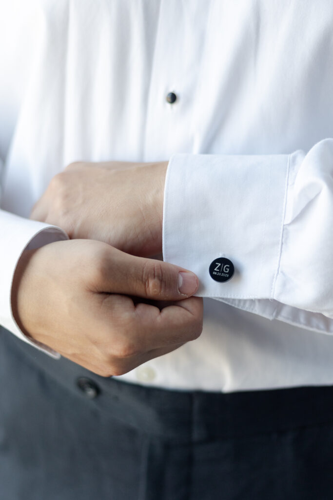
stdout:
POLYGON ((133 255, 162 251, 168 162, 71 163, 55 175, 30 217, 70 238, 104 241, 133 255))

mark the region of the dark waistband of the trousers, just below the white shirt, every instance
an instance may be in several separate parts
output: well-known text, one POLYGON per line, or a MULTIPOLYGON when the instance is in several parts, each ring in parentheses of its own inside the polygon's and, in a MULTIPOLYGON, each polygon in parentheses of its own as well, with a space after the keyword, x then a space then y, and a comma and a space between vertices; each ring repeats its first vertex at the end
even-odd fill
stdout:
MULTIPOLYGON (((141 431, 177 442, 226 439, 332 422, 333 387, 220 393, 146 387, 96 375, 55 360, 0 328, 13 362, 29 362, 87 404, 141 431), (84 386, 82 378, 87 379, 84 386), (79 382, 78 382, 79 381, 79 382), (82 387, 90 391, 82 390, 82 387)), ((264 374, 263 374, 264 376, 264 374)))

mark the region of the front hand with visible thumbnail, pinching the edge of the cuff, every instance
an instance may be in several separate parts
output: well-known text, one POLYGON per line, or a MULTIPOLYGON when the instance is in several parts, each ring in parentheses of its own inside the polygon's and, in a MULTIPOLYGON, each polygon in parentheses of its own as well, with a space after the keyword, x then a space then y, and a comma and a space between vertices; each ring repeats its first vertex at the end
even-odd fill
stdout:
POLYGON ((16 321, 33 339, 103 376, 120 375, 199 336, 192 272, 94 240, 23 253, 12 286, 16 321), (140 299, 173 301, 159 308, 140 299))

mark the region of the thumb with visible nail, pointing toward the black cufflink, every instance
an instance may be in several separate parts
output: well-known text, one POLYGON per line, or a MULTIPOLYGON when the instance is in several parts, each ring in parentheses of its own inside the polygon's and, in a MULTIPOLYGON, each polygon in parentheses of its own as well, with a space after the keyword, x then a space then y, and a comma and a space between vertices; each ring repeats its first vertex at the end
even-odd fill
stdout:
POLYGON ((182 267, 136 257, 109 247, 107 263, 98 291, 135 295, 155 300, 179 300, 193 295, 199 286, 197 276, 182 267))

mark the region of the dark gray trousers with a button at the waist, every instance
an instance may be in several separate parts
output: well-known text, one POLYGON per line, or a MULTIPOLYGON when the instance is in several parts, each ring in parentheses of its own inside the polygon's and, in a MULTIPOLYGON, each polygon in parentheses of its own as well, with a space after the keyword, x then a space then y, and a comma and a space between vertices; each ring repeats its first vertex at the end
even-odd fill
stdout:
POLYGON ((326 500, 333 388, 146 388, 0 328, 1 500, 326 500))

